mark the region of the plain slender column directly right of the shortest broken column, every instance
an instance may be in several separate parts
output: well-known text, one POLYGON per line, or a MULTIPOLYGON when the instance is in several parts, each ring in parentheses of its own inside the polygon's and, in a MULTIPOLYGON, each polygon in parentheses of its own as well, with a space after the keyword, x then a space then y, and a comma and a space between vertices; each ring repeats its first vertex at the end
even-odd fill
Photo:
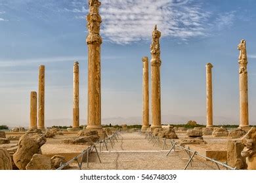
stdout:
POLYGON ((38 129, 45 130, 45 65, 39 66, 38 129))

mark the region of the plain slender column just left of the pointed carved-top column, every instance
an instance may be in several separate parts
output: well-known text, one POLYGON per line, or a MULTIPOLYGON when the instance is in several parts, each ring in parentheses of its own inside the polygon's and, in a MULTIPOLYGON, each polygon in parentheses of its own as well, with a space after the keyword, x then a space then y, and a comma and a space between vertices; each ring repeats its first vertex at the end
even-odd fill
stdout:
POLYGON ((143 63, 143 81, 142 81, 142 96, 143 96, 143 110, 142 110, 142 128, 141 131, 146 131, 149 125, 149 92, 148 92, 148 58, 142 58, 143 63))

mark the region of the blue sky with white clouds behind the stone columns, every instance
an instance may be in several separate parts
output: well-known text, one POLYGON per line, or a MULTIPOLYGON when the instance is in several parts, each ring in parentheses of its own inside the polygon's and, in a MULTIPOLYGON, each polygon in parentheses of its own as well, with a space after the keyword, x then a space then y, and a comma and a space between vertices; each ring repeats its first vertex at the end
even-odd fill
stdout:
MULTIPOLYGON (((163 122, 205 123, 210 62, 214 122, 239 124, 237 45, 245 39, 249 120, 256 124, 255 7, 253 0, 102 0, 102 118, 141 116, 141 58, 150 59, 158 24, 163 122)), ((29 124, 30 91, 37 91, 40 64, 46 67, 46 120, 72 119, 75 59, 81 119, 87 118, 87 13, 85 0, 0 0, 0 123, 29 124)))

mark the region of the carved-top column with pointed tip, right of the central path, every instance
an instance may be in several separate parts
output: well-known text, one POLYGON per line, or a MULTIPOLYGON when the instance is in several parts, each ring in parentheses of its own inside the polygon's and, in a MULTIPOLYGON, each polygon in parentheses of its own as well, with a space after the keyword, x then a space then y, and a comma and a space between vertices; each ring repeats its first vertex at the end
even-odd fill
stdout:
POLYGON ((161 85, 160 85, 160 37, 157 26, 152 33, 151 49, 151 80, 152 80, 152 125, 151 129, 161 128, 161 85))

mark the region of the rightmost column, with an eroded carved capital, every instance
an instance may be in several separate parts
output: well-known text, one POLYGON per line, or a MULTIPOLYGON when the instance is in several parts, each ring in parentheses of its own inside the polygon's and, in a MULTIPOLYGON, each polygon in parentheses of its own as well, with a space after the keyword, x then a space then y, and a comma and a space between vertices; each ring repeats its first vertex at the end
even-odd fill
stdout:
POLYGON ((247 84, 247 54, 246 42, 244 39, 238 44, 240 55, 239 63, 239 86, 240 86, 240 127, 249 126, 248 115, 248 84, 247 84))

